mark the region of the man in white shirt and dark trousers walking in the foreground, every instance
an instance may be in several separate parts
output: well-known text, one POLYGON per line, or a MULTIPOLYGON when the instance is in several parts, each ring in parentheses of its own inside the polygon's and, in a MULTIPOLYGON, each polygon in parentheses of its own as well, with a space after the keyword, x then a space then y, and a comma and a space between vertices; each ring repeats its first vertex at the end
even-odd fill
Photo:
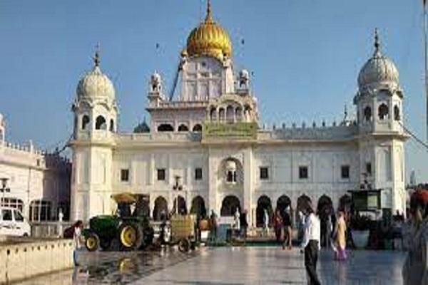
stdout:
POLYGON ((307 218, 305 222, 303 241, 301 244, 301 252, 305 253, 307 281, 308 284, 319 285, 321 283, 317 276, 317 261, 318 252, 321 249, 320 219, 315 216, 311 205, 307 205, 307 208, 304 209, 304 214, 307 218))

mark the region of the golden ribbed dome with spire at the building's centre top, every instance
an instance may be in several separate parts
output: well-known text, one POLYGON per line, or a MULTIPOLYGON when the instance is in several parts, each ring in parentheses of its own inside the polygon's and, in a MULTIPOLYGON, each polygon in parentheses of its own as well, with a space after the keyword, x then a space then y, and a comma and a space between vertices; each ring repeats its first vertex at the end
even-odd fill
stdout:
POLYGON ((208 0, 205 21, 190 32, 187 40, 188 56, 213 56, 220 61, 232 55, 232 43, 228 32, 213 21, 208 0))

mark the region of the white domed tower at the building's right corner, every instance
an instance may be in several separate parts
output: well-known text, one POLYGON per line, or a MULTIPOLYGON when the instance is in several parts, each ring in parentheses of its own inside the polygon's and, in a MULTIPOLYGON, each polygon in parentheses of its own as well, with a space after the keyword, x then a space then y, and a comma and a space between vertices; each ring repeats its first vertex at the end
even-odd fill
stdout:
POLYGON ((399 73, 394 62, 384 56, 377 29, 374 53, 358 76, 354 103, 360 143, 362 185, 382 190, 382 208, 405 212, 404 141, 399 73))

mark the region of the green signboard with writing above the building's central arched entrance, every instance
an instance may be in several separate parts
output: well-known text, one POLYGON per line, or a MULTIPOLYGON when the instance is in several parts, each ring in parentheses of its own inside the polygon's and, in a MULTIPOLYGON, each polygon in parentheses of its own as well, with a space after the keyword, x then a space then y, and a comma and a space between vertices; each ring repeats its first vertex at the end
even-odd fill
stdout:
POLYGON ((203 140, 255 140, 257 123, 203 123, 203 140))

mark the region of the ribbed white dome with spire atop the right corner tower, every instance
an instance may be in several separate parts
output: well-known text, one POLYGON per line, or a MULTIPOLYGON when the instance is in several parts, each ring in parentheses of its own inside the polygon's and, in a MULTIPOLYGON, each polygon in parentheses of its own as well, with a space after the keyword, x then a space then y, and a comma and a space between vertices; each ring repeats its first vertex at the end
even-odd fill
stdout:
POLYGON ((374 54, 361 68, 358 76, 358 87, 360 90, 364 90, 377 84, 397 87, 399 85, 399 73, 394 62, 382 55, 379 36, 375 30, 374 54))

